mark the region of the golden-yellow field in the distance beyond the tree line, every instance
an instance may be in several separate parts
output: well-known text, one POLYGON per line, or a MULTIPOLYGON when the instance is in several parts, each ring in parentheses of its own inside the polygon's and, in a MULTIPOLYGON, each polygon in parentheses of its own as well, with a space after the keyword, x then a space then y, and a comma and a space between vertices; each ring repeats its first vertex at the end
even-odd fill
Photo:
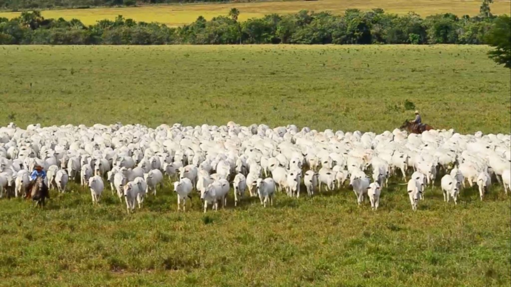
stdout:
MULTIPOLYGON (((340 14, 350 8, 369 10, 383 8, 389 13, 405 14, 414 11, 422 16, 436 13, 451 12, 458 16, 479 13, 480 0, 319 0, 319 1, 291 1, 291 2, 259 2, 236 4, 187 4, 162 5, 126 8, 94 8, 94 9, 66 9, 43 11, 46 18, 64 19, 78 18, 86 25, 94 24, 97 20, 113 19, 117 15, 132 18, 136 21, 161 22, 168 26, 181 26, 193 22, 198 16, 211 19, 215 16, 226 15, 231 8, 238 8, 241 12, 240 20, 260 17, 269 13, 293 13, 299 10, 332 11, 340 14)), ((509 14, 511 2, 509 0, 495 0, 491 5, 494 14, 509 14)), ((20 12, 2 12, 0 17, 16 17, 20 12)))

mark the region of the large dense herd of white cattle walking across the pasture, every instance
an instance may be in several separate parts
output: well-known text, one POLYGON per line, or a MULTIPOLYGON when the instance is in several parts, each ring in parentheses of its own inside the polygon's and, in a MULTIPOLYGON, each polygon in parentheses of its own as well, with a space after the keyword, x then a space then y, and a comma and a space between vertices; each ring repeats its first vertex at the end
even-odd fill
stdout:
POLYGON ((444 200, 457 203, 466 183, 479 187, 483 200, 492 178, 505 194, 511 183, 511 135, 462 135, 453 130, 410 134, 398 129, 373 132, 318 132, 294 125, 248 127, 187 127, 96 124, 27 129, 13 123, 0 128, 0 197, 20 196, 34 166, 47 171, 47 184, 59 193, 69 181, 90 189, 97 204, 110 183, 112 193, 124 199, 128 213, 140 208, 149 194, 163 188, 164 175, 177 193, 177 208, 185 210, 195 189, 204 202, 225 207, 230 186, 235 206, 245 193, 261 204, 273 204, 276 191, 300 196, 300 185, 312 196, 322 188, 333 190, 349 182, 357 203, 364 197, 377 209, 382 188, 391 176, 407 185, 412 210, 424 198, 426 186, 441 182, 444 200), (368 176, 369 175, 369 176, 368 176), (408 175, 408 176, 407 176, 408 175), (407 178, 409 179, 407 181, 407 178), (372 180, 372 182, 371 182, 372 180))

